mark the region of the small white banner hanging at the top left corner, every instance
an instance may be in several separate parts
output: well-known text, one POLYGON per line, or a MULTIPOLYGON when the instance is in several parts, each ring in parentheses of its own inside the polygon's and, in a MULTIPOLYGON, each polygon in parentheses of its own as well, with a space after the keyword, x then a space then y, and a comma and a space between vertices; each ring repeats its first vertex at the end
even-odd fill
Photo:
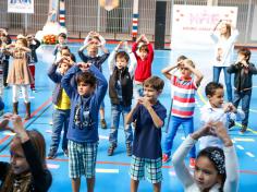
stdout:
POLYGON ((34 13, 34 0, 8 0, 9 13, 34 13))

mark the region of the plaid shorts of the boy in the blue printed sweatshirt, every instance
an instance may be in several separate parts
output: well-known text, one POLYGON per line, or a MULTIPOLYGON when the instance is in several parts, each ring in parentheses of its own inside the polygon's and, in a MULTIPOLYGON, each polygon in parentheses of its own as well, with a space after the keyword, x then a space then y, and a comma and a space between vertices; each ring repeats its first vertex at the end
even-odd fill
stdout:
POLYGON ((69 141, 69 176, 72 179, 94 178, 96 173, 98 143, 76 143, 69 141))

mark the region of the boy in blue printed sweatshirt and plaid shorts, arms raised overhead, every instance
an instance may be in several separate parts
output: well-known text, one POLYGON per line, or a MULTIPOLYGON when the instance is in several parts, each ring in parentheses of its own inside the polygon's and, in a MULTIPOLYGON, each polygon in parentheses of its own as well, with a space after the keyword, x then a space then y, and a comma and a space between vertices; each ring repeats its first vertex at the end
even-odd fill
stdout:
POLYGON ((81 177, 85 175, 87 191, 94 191, 99 140, 98 112, 108 83, 95 64, 78 63, 66 72, 62 77, 61 85, 71 99, 71 116, 66 137, 69 140, 69 169, 72 189, 73 192, 79 191, 81 177), (84 72, 79 72, 78 67, 83 68, 84 72), (74 86, 71 84, 71 79, 76 73, 76 86, 74 86))

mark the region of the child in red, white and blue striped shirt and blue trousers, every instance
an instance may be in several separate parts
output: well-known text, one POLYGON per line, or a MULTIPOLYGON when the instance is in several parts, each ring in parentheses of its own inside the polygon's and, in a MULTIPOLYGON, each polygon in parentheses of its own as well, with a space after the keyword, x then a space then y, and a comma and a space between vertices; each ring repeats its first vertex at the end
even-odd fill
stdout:
MULTIPOLYGON (((179 69, 181 75, 171 74, 171 84, 173 88, 173 104, 171 111, 171 125, 164 139, 164 153, 162 161, 167 163, 170 159, 173 140, 180 125, 183 125, 186 135, 194 132, 194 109, 195 109, 195 93, 203 80, 203 74, 195 69, 192 60, 186 59, 179 61, 175 65, 168 67, 162 70, 162 73, 169 73, 173 69, 179 69), (192 73, 195 77, 192 77, 192 73)), ((195 164, 195 147, 191 151, 191 167, 195 164)))

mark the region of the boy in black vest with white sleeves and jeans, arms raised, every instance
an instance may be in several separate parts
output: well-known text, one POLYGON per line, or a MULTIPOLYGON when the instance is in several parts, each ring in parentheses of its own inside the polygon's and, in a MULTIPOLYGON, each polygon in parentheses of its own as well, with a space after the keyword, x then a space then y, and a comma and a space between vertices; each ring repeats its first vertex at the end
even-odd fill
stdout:
POLYGON ((123 116, 124 132, 126 139, 126 154, 132 155, 132 140, 133 132, 131 124, 125 124, 125 118, 131 111, 131 104, 133 97, 133 79, 136 59, 133 52, 130 56, 125 51, 119 51, 121 46, 130 52, 127 43, 120 43, 111 52, 108 60, 110 80, 109 80, 109 95, 111 100, 111 131, 109 135, 110 147, 108 155, 112 156, 118 143, 118 129, 120 122, 120 115, 123 116), (131 60, 130 68, 127 67, 131 60))

